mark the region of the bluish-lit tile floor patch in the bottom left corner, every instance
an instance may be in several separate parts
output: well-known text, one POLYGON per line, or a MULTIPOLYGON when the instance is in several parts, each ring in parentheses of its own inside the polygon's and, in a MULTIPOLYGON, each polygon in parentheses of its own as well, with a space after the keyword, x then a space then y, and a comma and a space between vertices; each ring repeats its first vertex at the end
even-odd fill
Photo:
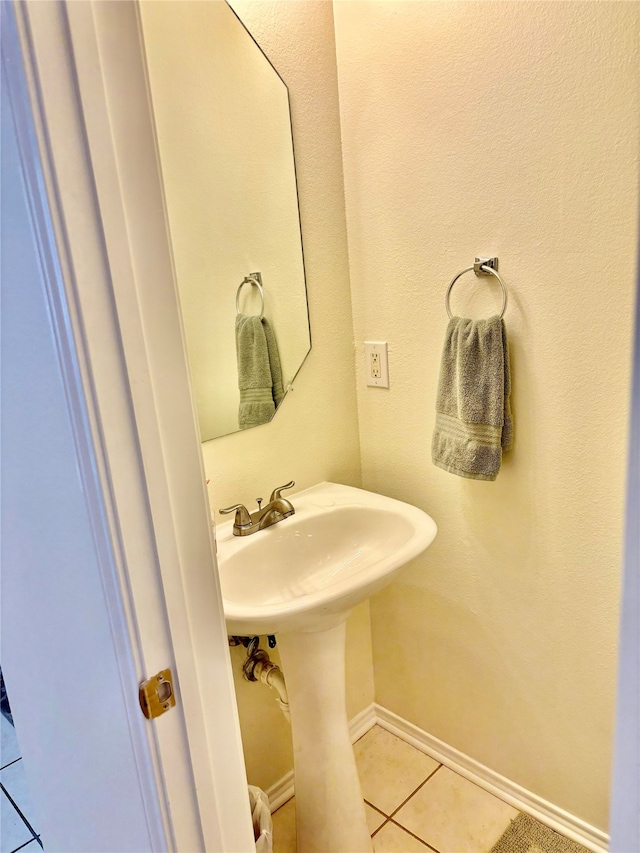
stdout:
POLYGON ((0 715, 0 853, 40 853, 16 731, 0 715))

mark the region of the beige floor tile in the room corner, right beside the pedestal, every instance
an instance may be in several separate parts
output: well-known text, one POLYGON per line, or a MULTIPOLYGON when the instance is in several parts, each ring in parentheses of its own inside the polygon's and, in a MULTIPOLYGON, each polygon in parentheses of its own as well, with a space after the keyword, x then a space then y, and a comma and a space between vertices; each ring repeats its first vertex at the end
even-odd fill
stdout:
POLYGON ((354 744, 362 796, 389 815, 433 773, 438 762, 374 726, 354 744))

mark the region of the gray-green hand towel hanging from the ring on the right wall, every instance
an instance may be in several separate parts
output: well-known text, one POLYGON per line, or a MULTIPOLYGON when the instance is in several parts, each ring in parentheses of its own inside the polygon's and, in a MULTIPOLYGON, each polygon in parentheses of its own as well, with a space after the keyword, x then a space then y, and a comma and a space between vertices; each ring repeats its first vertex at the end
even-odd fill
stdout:
POLYGON ((431 446, 439 468, 495 480, 513 444, 507 331, 498 316, 453 317, 447 326, 431 446))

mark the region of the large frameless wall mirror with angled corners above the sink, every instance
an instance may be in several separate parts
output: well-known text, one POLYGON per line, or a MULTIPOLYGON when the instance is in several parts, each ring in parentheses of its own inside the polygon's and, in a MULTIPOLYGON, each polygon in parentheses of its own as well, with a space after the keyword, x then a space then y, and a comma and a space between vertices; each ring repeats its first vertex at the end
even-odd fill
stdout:
MULTIPOLYGON (((206 441, 240 428, 238 312, 263 313, 265 323, 251 320, 247 327, 252 334, 268 327, 275 338, 285 394, 311 347, 289 93, 226 2, 145 0, 139 8, 206 441), (242 286, 254 273, 261 275, 263 297, 251 282, 242 286)), ((241 352, 244 345, 240 340, 241 352)), ((249 354, 250 382, 252 360, 261 357, 249 354)), ((273 361, 267 372, 275 376, 273 361)), ((264 371, 257 382, 264 384, 264 371)))

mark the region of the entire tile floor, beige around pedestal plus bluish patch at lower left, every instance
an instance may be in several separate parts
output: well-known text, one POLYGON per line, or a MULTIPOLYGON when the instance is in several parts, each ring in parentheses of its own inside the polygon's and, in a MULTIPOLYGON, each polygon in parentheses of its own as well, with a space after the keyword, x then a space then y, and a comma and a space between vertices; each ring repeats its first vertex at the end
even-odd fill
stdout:
MULTIPOLYGON (((39 853, 15 729, 0 725, 0 853, 39 853)), ((380 726, 354 750, 375 853, 488 853, 518 814, 380 726)), ((295 797, 273 827, 274 853, 296 853, 295 797)))

